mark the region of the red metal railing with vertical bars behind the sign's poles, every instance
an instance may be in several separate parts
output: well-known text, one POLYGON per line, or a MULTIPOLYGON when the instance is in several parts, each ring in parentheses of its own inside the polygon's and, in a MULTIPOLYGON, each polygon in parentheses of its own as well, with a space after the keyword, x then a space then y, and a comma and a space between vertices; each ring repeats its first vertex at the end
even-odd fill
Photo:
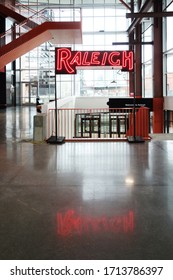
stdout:
POLYGON ((100 109, 71 109, 48 111, 47 136, 63 136, 66 140, 84 139, 126 139, 127 135, 133 136, 134 117, 136 132, 144 138, 149 138, 149 110, 143 108, 100 108, 100 109), (57 123, 57 129, 55 124, 57 123))

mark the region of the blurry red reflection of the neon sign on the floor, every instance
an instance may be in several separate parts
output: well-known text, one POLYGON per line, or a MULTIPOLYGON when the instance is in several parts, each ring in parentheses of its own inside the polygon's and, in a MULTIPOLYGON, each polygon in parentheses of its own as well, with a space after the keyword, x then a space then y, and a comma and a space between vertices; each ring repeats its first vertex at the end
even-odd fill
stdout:
POLYGON ((57 213, 57 233, 61 236, 70 234, 90 234, 98 232, 130 233, 134 231, 134 212, 127 215, 107 217, 81 216, 73 209, 64 215, 57 213))

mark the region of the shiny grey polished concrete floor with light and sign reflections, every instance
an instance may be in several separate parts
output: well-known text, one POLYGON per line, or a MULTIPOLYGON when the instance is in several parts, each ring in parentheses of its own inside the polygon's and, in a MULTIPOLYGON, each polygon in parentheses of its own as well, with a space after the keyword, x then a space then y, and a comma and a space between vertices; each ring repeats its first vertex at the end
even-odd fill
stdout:
POLYGON ((173 259, 173 140, 33 144, 0 110, 0 259, 173 259))

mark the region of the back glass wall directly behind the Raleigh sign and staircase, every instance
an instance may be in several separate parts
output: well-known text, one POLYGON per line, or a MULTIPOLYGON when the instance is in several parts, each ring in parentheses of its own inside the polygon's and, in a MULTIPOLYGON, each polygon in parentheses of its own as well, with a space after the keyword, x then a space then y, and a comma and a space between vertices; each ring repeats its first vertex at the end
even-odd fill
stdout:
MULTIPOLYGON (((128 42, 127 9, 115 0, 20 0, 28 7, 28 15, 42 11, 47 20, 73 20, 74 7, 82 10, 82 45, 73 50, 126 50, 128 42)), ((79 19, 78 19, 79 20, 79 19)), ((54 99, 55 47, 51 42, 39 46, 17 60, 16 96, 18 104, 34 104, 36 97, 43 102, 54 99)), ((76 75, 57 75, 57 97, 67 96, 128 96, 129 74, 120 70, 79 70, 76 75)))

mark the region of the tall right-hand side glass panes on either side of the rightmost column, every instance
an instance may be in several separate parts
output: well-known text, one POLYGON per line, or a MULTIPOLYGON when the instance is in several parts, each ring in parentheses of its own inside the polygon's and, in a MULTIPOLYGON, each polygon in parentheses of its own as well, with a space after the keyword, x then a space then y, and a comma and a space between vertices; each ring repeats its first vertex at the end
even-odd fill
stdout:
MULTIPOLYGON (((163 11, 173 11, 173 1, 163 1, 163 11)), ((173 18, 163 18, 163 95, 173 96, 173 18)), ((142 39, 144 42, 153 41, 153 20, 146 18, 142 22, 142 39)), ((142 81, 143 96, 153 97, 153 47, 142 46, 142 81)))

